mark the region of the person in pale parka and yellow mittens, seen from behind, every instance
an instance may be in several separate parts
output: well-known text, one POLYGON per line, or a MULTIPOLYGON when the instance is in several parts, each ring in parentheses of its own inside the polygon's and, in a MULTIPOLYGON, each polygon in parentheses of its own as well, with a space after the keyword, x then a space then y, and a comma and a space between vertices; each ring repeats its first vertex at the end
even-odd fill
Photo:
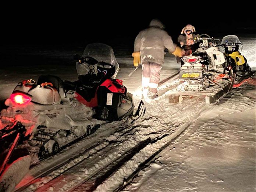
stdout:
POLYGON ((160 81, 161 65, 164 63, 164 49, 176 57, 181 57, 181 48, 177 47, 164 25, 153 19, 149 28, 139 32, 134 41, 134 66, 142 65, 142 87, 144 97, 157 97, 157 87, 160 81))

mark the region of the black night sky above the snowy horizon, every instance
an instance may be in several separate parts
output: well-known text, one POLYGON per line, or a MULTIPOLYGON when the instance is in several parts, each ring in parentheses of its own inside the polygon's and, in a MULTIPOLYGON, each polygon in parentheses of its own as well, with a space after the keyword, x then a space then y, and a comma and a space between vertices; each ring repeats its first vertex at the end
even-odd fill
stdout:
POLYGON ((242 8, 241 12, 234 11, 234 8, 229 6, 221 9, 220 6, 214 5, 197 8, 191 6, 190 10, 187 9, 189 11, 183 11, 186 9, 182 6, 165 10, 156 8, 155 11, 153 7, 136 7, 135 4, 131 6, 132 2, 129 4, 129 7, 122 5, 120 9, 80 4, 71 7, 66 5, 65 8, 46 4, 26 9, 19 9, 17 6, 11 13, 4 14, 1 44, 132 44, 139 31, 145 29, 154 18, 163 22, 174 41, 186 24, 195 26, 199 34, 207 33, 211 36, 253 34, 256 31, 256 17, 246 7, 242 8), (194 11, 196 9, 199 11, 194 11), (228 10, 232 11, 227 13, 228 10))

